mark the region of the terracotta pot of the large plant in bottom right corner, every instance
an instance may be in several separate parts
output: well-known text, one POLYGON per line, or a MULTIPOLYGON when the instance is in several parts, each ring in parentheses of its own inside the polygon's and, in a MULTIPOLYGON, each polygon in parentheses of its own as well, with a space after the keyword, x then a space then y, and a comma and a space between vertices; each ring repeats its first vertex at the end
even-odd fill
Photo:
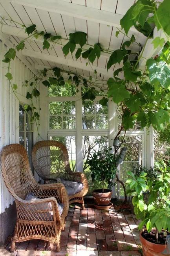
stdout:
MULTIPOLYGON (((141 234, 146 230, 143 229, 141 231, 141 234)), ((165 256, 165 254, 162 254, 166 248, 166 245, 157 245, 155 243, 151 243, 144 239, 144 237, 140 234, 140 240, 142 243, 142 250, 143 250, 143 256, 165 256)))

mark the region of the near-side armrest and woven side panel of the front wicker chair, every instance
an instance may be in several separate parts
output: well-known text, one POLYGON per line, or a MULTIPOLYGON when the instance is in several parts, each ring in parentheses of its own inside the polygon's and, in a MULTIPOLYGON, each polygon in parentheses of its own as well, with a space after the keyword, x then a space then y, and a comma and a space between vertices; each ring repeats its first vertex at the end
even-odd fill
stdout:
POLYGON ((36 200, 15 200, 17 218, 27 221, 58 221, 62 223, 55 197, 36 200))

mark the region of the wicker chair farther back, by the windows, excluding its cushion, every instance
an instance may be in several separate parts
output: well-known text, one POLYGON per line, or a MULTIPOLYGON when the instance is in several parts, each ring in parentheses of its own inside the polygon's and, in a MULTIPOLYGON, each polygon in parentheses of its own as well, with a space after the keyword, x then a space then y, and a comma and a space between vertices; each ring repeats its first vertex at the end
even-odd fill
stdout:
POLYGON ((45 184, 57 182, 57 178, 83 184, 79 193, 69 195, 69 204, 78 202, 84 209, 84 195, 88 192, 88 181, 84 173, 70 169, 68 151, 58 141, 38 141, 32 151, 33 166, 45 184))

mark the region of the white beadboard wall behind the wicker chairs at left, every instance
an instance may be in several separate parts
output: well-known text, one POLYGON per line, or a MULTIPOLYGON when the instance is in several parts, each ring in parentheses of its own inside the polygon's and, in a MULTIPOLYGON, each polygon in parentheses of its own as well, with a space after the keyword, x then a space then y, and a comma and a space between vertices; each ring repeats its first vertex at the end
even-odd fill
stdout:
MULTIPOLYGON (((15 46, 13 38, 0 34, 0 152, 5 145, 19 143, 19 102, 28 104, 26 99, 27 87, 23 87, 25 80, 30 80, 35 74, 34 63, 18 53, 11 61, 13 83, 18 85, 17 97, 9 87, 9 80, 5 78, 7 63, 3 63, 4 54, 8 48, 15 46)), ((37 102, 39 104, 39 102, 37 102)), ((34 136, 35 137, 35 136, 34 136)), ((0 213, 13 204, 13 197, 7 191, 0 175, 0 213)))

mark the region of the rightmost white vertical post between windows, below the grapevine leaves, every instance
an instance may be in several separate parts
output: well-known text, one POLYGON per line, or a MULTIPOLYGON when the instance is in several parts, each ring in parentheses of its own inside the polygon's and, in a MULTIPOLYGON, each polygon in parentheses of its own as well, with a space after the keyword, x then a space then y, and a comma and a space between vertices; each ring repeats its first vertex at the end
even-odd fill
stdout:
POLYGON ((150 128, 145 131, 145 134, 146 134, 145 164, 147 168, 150 168, 154 166, 154 129, 153 127, 150 126, 150 128))

